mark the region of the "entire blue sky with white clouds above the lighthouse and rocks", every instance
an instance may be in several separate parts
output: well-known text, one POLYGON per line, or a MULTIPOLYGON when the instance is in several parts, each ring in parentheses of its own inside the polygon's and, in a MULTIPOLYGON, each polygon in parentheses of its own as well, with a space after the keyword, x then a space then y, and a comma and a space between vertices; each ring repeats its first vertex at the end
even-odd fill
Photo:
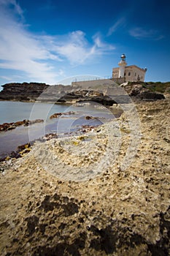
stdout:
POLYGON ((170 80, 169 0, 0 0, 0 85, 111 77, 120 55, 170 80))

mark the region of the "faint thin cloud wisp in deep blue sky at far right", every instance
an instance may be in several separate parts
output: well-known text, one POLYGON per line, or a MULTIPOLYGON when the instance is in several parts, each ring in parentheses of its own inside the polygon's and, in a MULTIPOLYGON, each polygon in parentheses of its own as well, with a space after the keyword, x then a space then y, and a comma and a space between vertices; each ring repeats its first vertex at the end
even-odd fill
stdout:
POLYGON ((137 27, 131 29, 129 34, 136 39, 151 39, 151 40, 160 40, 163 38, 163 35, 159 34, 158 31, 154 29, 143 29, 141 27, 137 27))

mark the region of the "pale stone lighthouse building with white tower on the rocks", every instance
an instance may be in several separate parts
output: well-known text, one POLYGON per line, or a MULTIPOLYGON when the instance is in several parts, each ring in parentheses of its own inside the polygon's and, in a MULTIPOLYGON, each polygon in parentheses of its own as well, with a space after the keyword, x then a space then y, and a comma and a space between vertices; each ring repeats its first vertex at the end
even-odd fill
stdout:
POLYGON ((112 79, 115 81, 121 80, 123 82, 137 82, 144 81, 145 73, 147 69, 137 67, 136 65, 127 66, 125 62, 125 54, 121 56, 121 61, 118 63, 120 67, 114 67, 112 69, 112 79))

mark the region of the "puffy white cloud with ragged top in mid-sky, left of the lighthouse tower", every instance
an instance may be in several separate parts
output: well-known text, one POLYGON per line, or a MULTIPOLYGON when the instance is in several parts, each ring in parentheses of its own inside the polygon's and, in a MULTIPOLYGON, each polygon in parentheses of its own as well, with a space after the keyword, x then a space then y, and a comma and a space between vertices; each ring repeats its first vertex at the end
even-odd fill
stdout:
POLYGON ((115 49, 113 45, 102 42, 99 34, 93 36, 93 43, 88 42, 83 31, 72 31, 60 37, 44 37, 42 40, 46 48, 57 54, 58 60, 67 59, 72 65, 83 64, 87 59, 115 49))

